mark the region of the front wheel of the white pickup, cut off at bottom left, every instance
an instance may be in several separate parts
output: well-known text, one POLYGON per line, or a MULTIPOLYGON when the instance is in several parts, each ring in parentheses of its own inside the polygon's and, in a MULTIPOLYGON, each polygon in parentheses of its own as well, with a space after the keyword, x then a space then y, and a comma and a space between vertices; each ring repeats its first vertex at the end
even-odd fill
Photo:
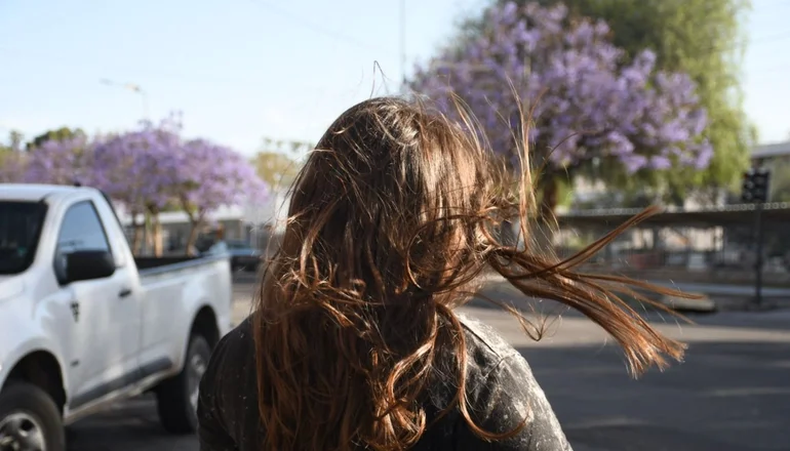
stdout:
POLYGON ((0 449, 65 451, 60 410, 44 390, 11 382, 0 393, 0 449))

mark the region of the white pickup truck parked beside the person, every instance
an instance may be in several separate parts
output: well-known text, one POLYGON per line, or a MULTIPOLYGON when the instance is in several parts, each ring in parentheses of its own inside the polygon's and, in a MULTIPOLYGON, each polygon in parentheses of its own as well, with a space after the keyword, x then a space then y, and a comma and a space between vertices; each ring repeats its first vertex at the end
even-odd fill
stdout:
POLYGON ((0 184, 0 450, 63 451, 65 425, 147 391, 194 431, 231 300, 227 255, 135 259, 100 191, 0 184))

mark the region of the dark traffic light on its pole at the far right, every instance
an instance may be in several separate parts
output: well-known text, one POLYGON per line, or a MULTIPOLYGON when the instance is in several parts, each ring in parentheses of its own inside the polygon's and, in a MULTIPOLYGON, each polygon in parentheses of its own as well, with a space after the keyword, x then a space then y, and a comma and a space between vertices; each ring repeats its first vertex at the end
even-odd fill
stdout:
POLYGON ((755 274, 754 302, 759 307, 763 301, 763 209, 768 201, 768 188, 771 172, 765 168, 754 168, 743 173, 741 200, 754 204, 754 241, 755 241, 755 274))

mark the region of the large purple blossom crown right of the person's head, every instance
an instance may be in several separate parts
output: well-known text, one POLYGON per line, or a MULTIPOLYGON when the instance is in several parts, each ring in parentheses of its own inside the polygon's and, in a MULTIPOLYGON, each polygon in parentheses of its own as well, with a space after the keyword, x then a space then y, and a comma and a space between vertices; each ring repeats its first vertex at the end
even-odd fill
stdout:
POLYGON ((411 87, 451 117, 457 94, 503 154, 517 149, 511 129, 519 108, 534 107, 532 158, 548 158, 554 169, 606 157, 629 173, 673 162, 707 167, 707 114, 695 84, 656 72, 651 51, 623 64, 609 33, 602 21, 571 22, 564 5, 509 2, 490 8, 484 30, 460 51, 448 48, 417 67, 411 87))

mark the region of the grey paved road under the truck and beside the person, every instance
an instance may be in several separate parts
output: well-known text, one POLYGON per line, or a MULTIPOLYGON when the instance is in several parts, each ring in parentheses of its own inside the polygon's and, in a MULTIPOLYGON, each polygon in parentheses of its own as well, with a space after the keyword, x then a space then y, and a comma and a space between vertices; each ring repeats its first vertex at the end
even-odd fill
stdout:
MULTIPOLYGON (((249 293, 248 285, 237 289, 239 317, 249 309, 249 293)), ((578 315, 564 314, 535 343, 495 309, 475 304, 466 311, 527 356, 576 451, 790 449, 788 311, 662 324, 664 332, 690 343, 686 363, 639 381, 627 377, 605 335, 578 315)), ((194 438, 161 430, 149 398, 76 424, 70 438, 70 451, 197 449, 194 438)))

